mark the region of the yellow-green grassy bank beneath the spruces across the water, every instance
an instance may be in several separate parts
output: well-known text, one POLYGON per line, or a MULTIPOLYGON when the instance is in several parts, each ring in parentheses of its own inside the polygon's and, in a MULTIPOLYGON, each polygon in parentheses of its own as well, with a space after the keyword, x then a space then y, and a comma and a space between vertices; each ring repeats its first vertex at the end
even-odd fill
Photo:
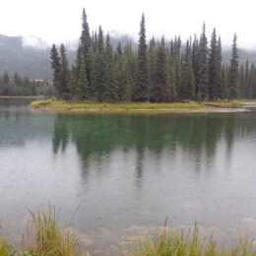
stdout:
POLYGON ((173 103, 106 103, 106 102, 76 102, 76 101, 58 101, 58 100, 36 100, 31 106, 33 108, 49 108, 62 110, 169 110, 169 111, 187 111, 214 109, 217 106, 222 108, 234 108, 243 106, 240 101, 217 101, 217 102, 173 102, 173 103))

